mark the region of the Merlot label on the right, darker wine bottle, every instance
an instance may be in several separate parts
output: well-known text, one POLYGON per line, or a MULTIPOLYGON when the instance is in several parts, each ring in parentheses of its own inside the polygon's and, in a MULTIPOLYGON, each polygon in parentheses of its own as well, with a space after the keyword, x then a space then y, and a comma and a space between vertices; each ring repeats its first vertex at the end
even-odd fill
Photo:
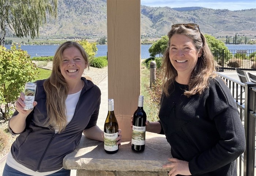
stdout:
POLYGON ((132 126, 132 144, 145 145, 146 126, 132 126))

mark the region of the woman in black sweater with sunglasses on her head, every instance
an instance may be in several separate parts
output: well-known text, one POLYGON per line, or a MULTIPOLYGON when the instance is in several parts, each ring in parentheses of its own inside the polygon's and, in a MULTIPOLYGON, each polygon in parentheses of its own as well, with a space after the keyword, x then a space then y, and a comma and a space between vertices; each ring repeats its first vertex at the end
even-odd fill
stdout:
POLYGON ((173 158, 168 175, 236 176, 245 132, 236 103, 217 77, 214 57, 197 24, 174 24, 163 60, 158 122, 148 132, 165 134, 173 158))

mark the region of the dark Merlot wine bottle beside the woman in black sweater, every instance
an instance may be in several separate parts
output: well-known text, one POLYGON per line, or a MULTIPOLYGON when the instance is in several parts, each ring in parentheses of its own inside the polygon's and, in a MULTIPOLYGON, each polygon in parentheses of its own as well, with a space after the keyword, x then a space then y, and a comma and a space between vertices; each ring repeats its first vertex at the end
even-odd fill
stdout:
POLYGON ((145 149, 147 115, 143 110, 143 99, 140 95, 138 109, 133 114, 132 150, 135 152, 143 152, 145 149))

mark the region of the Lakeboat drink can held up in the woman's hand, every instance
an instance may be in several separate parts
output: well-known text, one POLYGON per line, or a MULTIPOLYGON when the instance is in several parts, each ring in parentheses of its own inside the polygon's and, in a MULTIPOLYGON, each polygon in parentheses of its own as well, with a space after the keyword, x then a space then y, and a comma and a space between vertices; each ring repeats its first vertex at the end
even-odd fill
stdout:
POLYGON ((34 82, 28 82, 25 84, 25 110, 32 110, 34 108, 33 102, 35 101, 35 89, 37 87, 37 84, 34 82))

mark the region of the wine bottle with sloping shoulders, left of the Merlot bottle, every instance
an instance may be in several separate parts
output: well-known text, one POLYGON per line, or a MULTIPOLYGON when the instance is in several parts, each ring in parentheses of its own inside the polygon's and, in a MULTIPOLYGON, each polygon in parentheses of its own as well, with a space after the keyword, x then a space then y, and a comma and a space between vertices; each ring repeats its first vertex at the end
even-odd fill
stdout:
POLYGON ((106 153, 113 154, 118 152, 117 137, 118 123, 114 114, 114 100, 108 99, 108 116, 104 124, 104 150, 106 153))

